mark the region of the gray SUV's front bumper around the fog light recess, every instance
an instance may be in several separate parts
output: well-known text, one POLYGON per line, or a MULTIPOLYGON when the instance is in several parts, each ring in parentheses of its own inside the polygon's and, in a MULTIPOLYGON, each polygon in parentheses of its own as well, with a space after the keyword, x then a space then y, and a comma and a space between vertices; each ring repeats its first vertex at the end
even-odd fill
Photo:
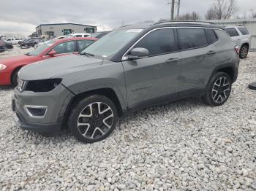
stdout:
POLYGON ((61 130, 64 114, 73 96, 62 85, 47 93, 34 93, 31 91, 20 93, 15 88, 12 96, 13 120, 22 129, 56 135, 61 130), (47 106, 48 109, 43 117, 32 117, 26 111, 24 107, 26 105, 47 106))

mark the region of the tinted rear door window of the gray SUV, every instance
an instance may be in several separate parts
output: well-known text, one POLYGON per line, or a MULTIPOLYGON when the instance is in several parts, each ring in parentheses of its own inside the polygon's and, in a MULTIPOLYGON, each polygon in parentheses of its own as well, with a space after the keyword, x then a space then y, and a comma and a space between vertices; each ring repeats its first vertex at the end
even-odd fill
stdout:
POLYGON ((206 32, 203 28, 178 28, 178 34, 182 50, 208 45, 206 32))

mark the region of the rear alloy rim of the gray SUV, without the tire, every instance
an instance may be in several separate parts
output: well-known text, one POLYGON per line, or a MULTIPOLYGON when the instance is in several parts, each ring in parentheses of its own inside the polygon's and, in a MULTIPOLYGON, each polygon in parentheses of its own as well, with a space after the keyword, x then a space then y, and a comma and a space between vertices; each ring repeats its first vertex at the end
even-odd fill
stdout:
POLYGON ((231 85, 227 77, 219 77, 212 87, 211 95, 215 103, 225 102, 230 95, 231 85))

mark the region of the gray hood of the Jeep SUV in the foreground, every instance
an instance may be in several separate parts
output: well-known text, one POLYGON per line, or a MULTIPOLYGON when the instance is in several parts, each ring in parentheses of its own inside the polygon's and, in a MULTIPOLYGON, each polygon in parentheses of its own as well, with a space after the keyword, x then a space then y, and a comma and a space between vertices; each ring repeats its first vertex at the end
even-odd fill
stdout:
POLYGON ((23 80, 50 79, 73 71, 91 69, 101 64, 102 59, 72 54, 29 64, 20 69, 19 77, 23 80))

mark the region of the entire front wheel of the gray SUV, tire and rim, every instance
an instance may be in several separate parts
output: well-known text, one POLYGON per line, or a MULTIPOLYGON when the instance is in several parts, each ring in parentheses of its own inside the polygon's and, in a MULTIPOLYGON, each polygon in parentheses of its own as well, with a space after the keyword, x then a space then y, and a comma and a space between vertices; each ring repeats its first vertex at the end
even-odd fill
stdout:
POLYGON ((104 95, 89 95, 73 104, 68 127, 84 143, 102 141, 116 128, 116 105, 104 95))

